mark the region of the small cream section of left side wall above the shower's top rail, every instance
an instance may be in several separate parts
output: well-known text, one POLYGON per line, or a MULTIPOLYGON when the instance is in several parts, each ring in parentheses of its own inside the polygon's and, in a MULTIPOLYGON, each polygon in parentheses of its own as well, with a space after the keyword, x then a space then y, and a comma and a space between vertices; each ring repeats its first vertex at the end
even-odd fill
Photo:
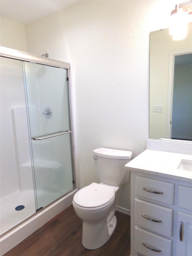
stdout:
POLYGON ((23 52, 27 51, 24 25, 13 20, 1 17, 0 34, 1 46, 16 49, 23 52))

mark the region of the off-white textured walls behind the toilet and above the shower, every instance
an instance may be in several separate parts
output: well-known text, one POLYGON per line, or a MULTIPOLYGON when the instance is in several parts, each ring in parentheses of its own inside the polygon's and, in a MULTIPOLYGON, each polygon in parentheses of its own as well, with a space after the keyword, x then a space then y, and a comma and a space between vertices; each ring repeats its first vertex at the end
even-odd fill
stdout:
MULTIPOLYGON (((99 182, 93 149, 130 150, 133 158, 146 149, 149 34, 169 27, 177 3, 71 2, 25 25, 1 17, 1 46, 37 56, 48 53, 51 59, 71 63, 76 185, 82 188, 99 182)), ((131 210, 130 191, 129 179, 116 195, 117 207, 126 214, 131 210)))

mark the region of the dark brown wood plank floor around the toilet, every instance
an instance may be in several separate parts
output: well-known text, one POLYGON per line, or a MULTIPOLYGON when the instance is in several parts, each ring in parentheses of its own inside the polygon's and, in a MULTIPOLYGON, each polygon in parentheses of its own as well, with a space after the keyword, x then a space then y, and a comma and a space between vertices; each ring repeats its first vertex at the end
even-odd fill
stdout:
POLYGON ((70 205, 4 256, 129 256, 130 216, 116 212, 116 217, 116 230, 107 243, 88 250, 81 243, 82 220, 70 205))

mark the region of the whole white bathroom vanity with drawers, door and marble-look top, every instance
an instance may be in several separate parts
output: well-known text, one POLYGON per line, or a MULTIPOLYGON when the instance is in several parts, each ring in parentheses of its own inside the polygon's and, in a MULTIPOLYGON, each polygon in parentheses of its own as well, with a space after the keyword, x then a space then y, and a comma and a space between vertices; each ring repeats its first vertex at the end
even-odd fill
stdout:
POLYGON ((138 156, 125 166, 131 170, 131 256, 192 255, 191 171, 184 171, 184 177, 175 176, 159 160, 158 152, 155 155, 156 161, 151 158, 141 164, 138 156))

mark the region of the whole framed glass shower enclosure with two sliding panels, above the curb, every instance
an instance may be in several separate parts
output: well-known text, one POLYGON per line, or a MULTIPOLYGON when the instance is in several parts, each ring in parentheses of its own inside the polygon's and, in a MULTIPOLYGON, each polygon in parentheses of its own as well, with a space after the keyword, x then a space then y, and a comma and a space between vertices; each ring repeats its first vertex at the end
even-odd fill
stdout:
POLYGON ((2 234, 74 191, 75 175, 70 64, 0 50, 2 234))

